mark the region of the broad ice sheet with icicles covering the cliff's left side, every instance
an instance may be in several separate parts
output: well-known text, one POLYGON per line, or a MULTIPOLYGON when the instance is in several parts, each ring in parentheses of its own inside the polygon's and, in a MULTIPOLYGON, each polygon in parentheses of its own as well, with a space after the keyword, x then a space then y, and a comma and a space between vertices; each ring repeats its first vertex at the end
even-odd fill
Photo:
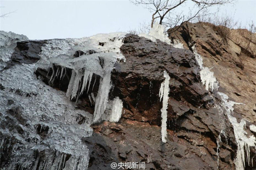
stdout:
MULTIPOLYGON (((0 117, 1 123, 8 125, 5 129, 0 128, 1 151, 9 151, 8 143, 16 142, 12 145, 15 153, 8 153, 13 155, 12 164, 5 168, 87 169, 89 152, 81 138, 92 135, 90 124, 105 111, 114 63, 125 62, 119 49, 124 36, 125 33, 110 33, 81 39, 48 40, 36 64, 14 65, 0 73, 0 117), (92 77, 99 76, 98 95, 95 98, 93 93, 88 94, 91 104, 95 103, 94 119, 88 112, 76 109, 75 104, 64 97, 64 92, 38 79, 34 73, 38 67, 51 68, 51 75, 48 72, 51 83, 67 76, 68 69, 72 70, 66 96, 76 101, 93 88, 96 78, 92 82, 92 77), (11 114, 13 116, 9 117, 11 114), (9 121, 14 128, 9 127, 9 121)), ((1 63, 10 59, 15 47, 12 44, 15 40, 10 37, 11 40, 4 37, 6 41, 1 44, 1 48, 8 47, 8 56, 1 55, 1 63)), ((27 38, 21 36, 20 40, 27 38)), ((116 117, 112 119, 117 121, 122 101, 116 99, 114 103, 116 117)))

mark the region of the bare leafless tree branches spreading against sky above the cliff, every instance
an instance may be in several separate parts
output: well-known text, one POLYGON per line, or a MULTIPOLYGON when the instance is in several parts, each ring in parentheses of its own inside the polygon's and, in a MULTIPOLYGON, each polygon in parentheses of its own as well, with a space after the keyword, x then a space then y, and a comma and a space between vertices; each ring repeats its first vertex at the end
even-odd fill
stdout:
POLYGON ((159 24, 173 28, 171 33, 178 30, 185 22, 209 15, 210 7, 232 3, 233 0, 131 0, 131 2, 145 5, 152 12, 151 27, 155 20, 159 19, 159 24), (188 6, 193 8, 183 12, 182 8, 188 6))

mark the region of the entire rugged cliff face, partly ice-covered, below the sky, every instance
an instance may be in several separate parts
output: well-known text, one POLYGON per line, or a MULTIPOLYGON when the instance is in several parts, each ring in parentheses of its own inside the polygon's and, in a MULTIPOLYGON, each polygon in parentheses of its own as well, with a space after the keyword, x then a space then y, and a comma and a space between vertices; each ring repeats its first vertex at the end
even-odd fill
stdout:
POLYGON ((215 30, 188 23, 169 35, 185 49, 124 33, 15 42, 0 72, 0 166, 255 168, 256 37, 248 45, 246 30, 230 30, 226 40, 215 30), (164 71, 170 77, 166 143, 159 97, 164 71), (215 87, 213 74, 218 91, 205 89, 215 87), (122 115, 110 122, 109 115, 119 114, 117 100, 122 115), (104 112, 97 120, 95 108, 104 112))

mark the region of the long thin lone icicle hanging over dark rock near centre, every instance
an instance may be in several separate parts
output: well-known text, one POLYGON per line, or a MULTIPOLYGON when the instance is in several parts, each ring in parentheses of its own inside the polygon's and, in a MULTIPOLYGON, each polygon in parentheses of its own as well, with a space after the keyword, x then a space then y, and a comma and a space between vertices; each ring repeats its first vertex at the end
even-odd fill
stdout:
POLYGON ((161 109, 161 117, 162 117, 162 125, 161 125, 161 134, 162 134, 162 141, 166 143, 167 137, 167 107, 168 107, 168 100, 169 100, 169 81, 170 76, 164 70, 164 82, 161 83, 160 90, 159 90, 159 98, 160 101, 163 99, 163 107, 161 109))

